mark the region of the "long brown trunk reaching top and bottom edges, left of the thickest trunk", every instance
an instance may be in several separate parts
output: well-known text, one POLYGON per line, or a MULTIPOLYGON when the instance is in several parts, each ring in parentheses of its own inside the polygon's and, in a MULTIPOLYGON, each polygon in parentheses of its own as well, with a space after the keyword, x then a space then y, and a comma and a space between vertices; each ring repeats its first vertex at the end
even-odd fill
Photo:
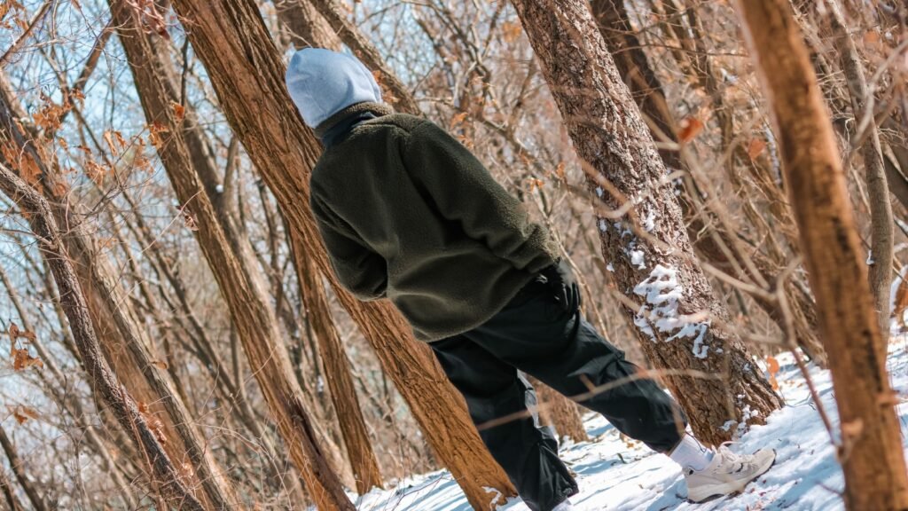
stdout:
MULTIPOLYGON (((277 317, 256 271, 252 248, 242 243, 229 216, 218 217, 200 174, 214 174, 210 160, 193 162, 190 138, 201 145, 194 115, 173 108, 175 93, 168 70, 156 59, 147 31, 137 13, 125 3, 112 2, 121 42, 129 59, 149 125, 165 126, 159 133, 158 155, 170 177, 184 215, 192 215, 199 245, 227 302, 234 326, 249 359, 252 374, 277 422, 284 445, 320 509, 354 509, 341 480, 329 462, 337 449, 325 451, 305 410, 302 390, 293 377, 290 358, 277 326, 277 317), (230 232, 228 232, 230 231, 230 232)), ((161 48, 157 52, 166 51, 161 48)))

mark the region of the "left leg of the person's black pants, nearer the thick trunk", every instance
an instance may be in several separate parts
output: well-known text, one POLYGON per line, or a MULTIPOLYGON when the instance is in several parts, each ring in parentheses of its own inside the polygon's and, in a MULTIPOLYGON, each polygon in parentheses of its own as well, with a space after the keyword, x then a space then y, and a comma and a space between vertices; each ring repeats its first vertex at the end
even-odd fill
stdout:
POLYGON ((548 511, 576 494, 577 483, 558 459, 555 436, 548 427, 539 426, 535 413, 487 425, 495 419, 535 410, 536 393, 518 370, 464 336, 429 346, 467 401, 469 416, 479 427, 482 441, 527 506, 533 511, 548 511))

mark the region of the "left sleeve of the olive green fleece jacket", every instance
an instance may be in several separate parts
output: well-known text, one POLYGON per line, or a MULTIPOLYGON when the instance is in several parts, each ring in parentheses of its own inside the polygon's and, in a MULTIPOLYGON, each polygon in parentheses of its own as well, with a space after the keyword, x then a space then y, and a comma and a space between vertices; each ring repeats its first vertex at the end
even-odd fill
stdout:
POLYGON ((385 259, 364 245, 350 226, 314 194, 310 205, 341 286, 362 301, 384 298, 388 287, 385 259))

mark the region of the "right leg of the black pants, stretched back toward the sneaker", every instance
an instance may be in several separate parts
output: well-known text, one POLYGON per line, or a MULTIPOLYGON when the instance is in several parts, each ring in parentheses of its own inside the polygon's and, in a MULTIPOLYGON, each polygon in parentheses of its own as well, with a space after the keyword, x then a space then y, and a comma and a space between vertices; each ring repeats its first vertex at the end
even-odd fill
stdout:
MULTIPOLYGON (((502 361, 537 377, 565 396, 588 393, 637 372, 624 353, 580 316, 554 302, 534 282, 488 323, 466 334, 502 361)), ((686 419, 675 400, 650 379, 637 379, 578 401, 619 431, 668 452, 681 440, 686 419)))

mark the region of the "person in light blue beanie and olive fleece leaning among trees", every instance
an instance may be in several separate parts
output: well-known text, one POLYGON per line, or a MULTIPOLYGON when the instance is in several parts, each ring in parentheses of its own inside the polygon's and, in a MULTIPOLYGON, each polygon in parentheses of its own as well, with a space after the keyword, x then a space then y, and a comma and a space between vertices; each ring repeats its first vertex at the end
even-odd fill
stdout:
POLYGON ((739 491, 772 466, 773 450, 739 456, 686 434, 675 401, 634 378, 637 367, 581 316, 575 278, 547 230, 442 128, 384 105, 359 60, 303 49, 286 83, 325 147, 311 209, 338 280, 360 300, 390 299, 429 343, 530 509, 570 509, 578 490, 522 374, 581 396, 675 460, 690 500, 739 491), (618 380, 627 381, 588 391, 618 380))

